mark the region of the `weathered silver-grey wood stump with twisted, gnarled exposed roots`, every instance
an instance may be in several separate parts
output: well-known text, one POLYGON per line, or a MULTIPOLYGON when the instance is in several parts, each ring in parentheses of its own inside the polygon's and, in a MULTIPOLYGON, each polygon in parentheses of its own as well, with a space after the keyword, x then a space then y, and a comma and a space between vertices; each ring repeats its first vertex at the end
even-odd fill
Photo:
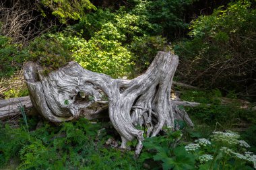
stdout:
POLYGON ((170 101, 172 78, 178 64, 178 56, 158 52, 146 73, 127 80, 88 71, 77 62, 69 62, 44 75, 42 67, 28 62, 24 77, 34 107, 53 122, 98 116, 108 103, 110 121, 121 135, 121 148, 137 138, 135 153, 139 154, 143 130, 135 126, 145 126, 147 136, 156 136, 163 126, 174 128, 175 119, 183 119, 193 126, 187 113, 170 101))

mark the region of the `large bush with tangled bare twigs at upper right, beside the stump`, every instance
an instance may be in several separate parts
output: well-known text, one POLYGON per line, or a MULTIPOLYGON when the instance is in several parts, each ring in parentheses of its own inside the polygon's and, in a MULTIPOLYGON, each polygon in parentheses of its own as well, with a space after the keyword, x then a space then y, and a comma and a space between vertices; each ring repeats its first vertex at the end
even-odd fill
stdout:
POLYGON ((255 75, 256 10, 251 1, 218 7, 191 22, 191 40, 174 45, 181 57, 179 75, 205 87, 242 91, 255 75), (253 71, 253 72, 252 72, 253 71), (241 81, 243 80, 243 81, 241 81))

